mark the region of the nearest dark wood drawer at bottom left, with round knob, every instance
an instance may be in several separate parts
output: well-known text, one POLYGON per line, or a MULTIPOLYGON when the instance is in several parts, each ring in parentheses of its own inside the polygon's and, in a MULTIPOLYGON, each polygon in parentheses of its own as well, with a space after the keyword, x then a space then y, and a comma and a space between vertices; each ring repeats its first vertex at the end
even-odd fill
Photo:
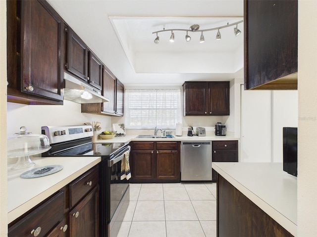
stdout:
POLYGON ((30 237, 32 230, 40 231, 38 237, 47 236, 64 218, 64 191, 60 191, 35 208, 20 221, 10 226, 8 237, 30 237), (49 218, 48 218, 49 217, 49 218))

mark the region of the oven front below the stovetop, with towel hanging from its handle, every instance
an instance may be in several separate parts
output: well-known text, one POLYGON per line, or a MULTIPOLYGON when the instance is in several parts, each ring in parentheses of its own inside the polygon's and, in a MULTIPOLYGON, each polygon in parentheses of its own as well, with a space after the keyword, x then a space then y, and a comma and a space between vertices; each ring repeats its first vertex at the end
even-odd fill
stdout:
POLYGON ((121 180, 121 163, 124 153, 130 152, 130 146, 123 149, 120 154, 107 160, 107 177, 110 192, 107 193, 108 206, 108 237, 116 237, 123 221, 130 201, 129 180, 121 180))

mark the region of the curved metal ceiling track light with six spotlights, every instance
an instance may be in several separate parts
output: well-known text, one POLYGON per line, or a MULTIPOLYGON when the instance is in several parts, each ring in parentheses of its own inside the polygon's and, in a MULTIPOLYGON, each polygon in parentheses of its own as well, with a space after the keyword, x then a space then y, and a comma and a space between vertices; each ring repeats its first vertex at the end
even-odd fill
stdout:
POLYGON ((224 25, 224 26, 215 27, 215 28, 211 28, 211 29, 205 29, 205 30, 200 30, 200 29, 199 29, 199 25, 194 24, 194 25, 192 25, 192 26, 189 28, 189 30, 186 30, 186 29, 168 29, 168 30, 165 30, 165 28, 164 28, 164 29, 161 30, 161 31, 152 32, 152 34, 157 34, 157 38, 155 38, 154 42, 155 42, 155 43, 159 43, 158 33, 170 31, 170 32, 171 32, 171 36, 170 36, 170 38, 169 38, 169 41, 170 41, 170 42, 174 42, 174 32, 173 32, 173 31, 186 31, 185 40, 186 40, 187 42, 189 42, 189 41, 191 40, 191 37, 188 35, 188 32, 189 32, 189 31, 191 31, 191 32, 201 32, 201 36, 200 36, 199 42, 200 42, 200 43, 203 43, 203 42, 205 42, 205 38, 204 38, 203 32, 206 32, 206 31, 215 31, 215 30, 217 30, 216 40, 220 40, 220 39, 221 39, 220 29, 236 25, 236 27, 233 29, 233 30, 234 30, 234 35, 235 35, 235 36, 240 35, 240 34, 241 34, 241 31, 238 29, 238 24, 239 24, 239 23, 242 23, 242 22, 243 22, 243 20, 238 21, 238 22, 235 22, 235 23, 232 23, 232 24, 227 23, 227 25, 224 25))

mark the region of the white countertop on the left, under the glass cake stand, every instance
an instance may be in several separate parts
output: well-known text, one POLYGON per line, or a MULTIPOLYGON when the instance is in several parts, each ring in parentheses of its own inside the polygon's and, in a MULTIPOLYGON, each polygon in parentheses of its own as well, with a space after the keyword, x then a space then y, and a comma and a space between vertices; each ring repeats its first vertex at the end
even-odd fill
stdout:
POLYGON ((8 166, 8 223, 94 167, 101 157, 33 157, 32 161, 35 166, 27 169, 12 170, 8 166), (63 169, 43 177, 20 178, 27 170, 53 164, 63 165, 63 169))

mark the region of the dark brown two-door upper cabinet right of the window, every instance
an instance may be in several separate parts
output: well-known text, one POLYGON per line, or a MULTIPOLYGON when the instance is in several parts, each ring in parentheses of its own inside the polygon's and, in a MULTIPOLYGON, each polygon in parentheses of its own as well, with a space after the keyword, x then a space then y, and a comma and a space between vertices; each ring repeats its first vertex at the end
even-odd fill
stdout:
POLYGON ((186 81, 183 103, 184 116, 229 115, 229 81, 186 81))

